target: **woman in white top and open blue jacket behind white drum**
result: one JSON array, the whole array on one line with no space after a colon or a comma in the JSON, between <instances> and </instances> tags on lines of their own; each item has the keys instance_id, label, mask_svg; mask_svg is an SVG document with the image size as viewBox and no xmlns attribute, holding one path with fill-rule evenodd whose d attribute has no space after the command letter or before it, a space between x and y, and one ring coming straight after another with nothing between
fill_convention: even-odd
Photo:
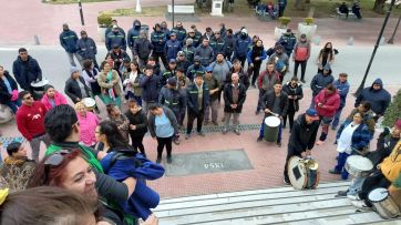
<instances>
[{"instance_id":1,"label":"woman in white top and open blue jacket behind white drum","mask_svg":"<svg viewBox=\"0 0 401 225\"><path fill-rule=\"evenodd\" d=\"M345 170L346 161L351 154L362 155L370 142L370 132L363 124L363 113L353 114L353 120L346 120L337 132L337 165L329 170L331 174L341 174L342 180L348 180L348 172Z\"/></svg>"}]
</instances>

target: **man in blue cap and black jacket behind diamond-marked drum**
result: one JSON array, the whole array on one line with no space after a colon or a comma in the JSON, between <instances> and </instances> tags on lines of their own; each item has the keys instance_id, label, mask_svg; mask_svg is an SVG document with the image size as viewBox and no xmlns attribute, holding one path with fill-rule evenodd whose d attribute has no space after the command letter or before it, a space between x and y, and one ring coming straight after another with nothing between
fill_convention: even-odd
<instances>
[{"instance_id":1,"label":"man in blue cap and black jacket behind diamond-marked drum","mask_svg":"<svg viewBox=\"0 0 401 225\"><path fill-rule=\"evenodd\" d=\"M288 161L291 156L297 155L306 157L311 155L311 150L315 146L316 135L319 130L319 116L315 109L309 109L306 113L300 114L294 122L291 135L288 140L288 152L286 165L284 168L284 183L290 184L288 177Z\"/></svg>"}]
</instances>

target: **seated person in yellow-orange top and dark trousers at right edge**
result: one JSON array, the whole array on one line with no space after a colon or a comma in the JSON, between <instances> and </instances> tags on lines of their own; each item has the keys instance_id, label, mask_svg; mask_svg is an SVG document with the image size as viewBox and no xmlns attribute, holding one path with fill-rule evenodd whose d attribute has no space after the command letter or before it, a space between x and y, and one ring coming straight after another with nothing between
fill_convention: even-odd
<instances>
[{"instance_id":1,"label":"seated person in yellow-orange top and dark trousers at right edge","mask_svg":"<svg viewBox=\"0 0 401 225\"><path fill-rule=\"evenodd\" d=\"M369 193L378 187L389 188L401 173L401 141L397 143L391 154L378 165L378 171L371 173L363 182L358 193L361 201L352 201L357 207L372 207L368 198ZM394 184L398 184L397 182Z\"/></svg>"}]
</instances>

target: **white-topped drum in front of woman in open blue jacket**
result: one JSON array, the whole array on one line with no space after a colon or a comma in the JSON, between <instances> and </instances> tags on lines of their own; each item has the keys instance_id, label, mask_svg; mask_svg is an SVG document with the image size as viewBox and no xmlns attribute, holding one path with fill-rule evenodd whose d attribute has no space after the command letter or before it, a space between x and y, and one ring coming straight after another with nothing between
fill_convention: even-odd
<instances>
[{"instance_id":1,"label":"white-topped drum in front of woman in open blue jacket","mask_svg":"<svg viewBox=\"0 0 401 225\"><path fill-rule=\"evenodd\" d=\"M360 155L351 155L347 158L346 170L353 176L367 176L373 168L373 163L368 158Z\"/></svg>"}]
</instances>

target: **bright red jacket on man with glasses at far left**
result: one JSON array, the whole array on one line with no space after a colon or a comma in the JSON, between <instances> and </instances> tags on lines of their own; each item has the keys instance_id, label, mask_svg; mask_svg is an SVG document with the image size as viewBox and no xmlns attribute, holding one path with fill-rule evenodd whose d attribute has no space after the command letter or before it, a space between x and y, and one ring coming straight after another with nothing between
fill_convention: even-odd
<instances>
[{"instance_id":1,"label":"bright red jacket on man with glasses at far left","mask_svg":"<svg viewBox=\"0 0 401 225\"><path fill-rule=\"evenodd\" d=\"M48 112L44 104L34 101L32 106L22 104L17 111L17 126L28 141L45 133L44 115Z\"/></svg>"}]
</instances>

